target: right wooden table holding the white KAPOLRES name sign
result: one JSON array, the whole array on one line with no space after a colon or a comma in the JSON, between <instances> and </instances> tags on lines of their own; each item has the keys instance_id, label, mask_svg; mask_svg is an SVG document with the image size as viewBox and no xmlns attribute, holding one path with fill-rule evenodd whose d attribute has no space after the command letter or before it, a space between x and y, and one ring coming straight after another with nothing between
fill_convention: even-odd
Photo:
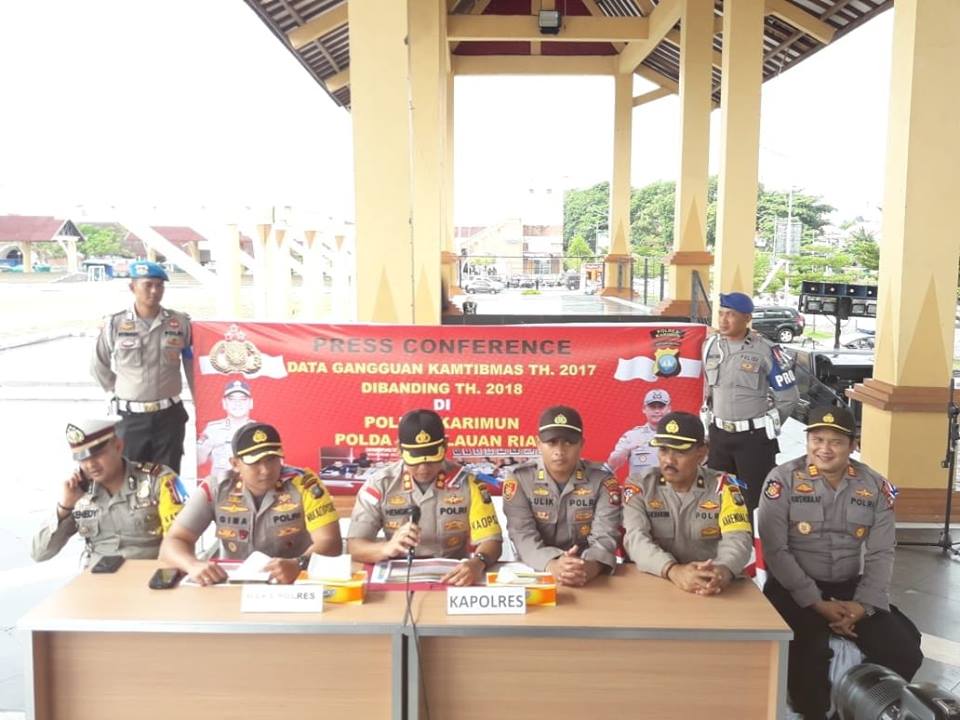
<instances>
[{"instance_id":1,"label":"right wooden table holding the white KAPOLRES name sign","mask_svg":"<svg viewBox=\"0 0 960 720\"><path fill-rule=\"evenodd\" d=\"M747 580L700 597L628 565L526 615L448 616L444 602L415 598L410 718L424 688L431 718L784 715L790 628Z\"/></svg>"}]
</instances>

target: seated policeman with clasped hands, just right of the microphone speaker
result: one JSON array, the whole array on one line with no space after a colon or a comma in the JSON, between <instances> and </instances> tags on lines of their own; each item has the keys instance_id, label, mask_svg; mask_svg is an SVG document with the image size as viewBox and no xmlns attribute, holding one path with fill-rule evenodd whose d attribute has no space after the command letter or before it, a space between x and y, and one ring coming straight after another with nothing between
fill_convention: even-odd
<instances>
[{"instance_id":1,"label":"seated policeman with clasped hands, just right of the microphone speaker","mask_svg":"<svg viewBox=\"0 0 960 720\"><path fill-rule=\"evenodd\" d=\"M539 422L540 457L503 483L507 533L519 559L563 585L582 586L617 568L620 486L599 463L581 460L583 420L555 405Z\"/></svg>"}]
</instances>

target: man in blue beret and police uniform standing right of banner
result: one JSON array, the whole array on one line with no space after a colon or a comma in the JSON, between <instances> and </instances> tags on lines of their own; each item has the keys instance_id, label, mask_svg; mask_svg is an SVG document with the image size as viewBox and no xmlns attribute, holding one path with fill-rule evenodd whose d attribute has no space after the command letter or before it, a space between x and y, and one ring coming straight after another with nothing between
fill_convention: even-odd
<instances>
[{"instance_id":1,"label":"man in blue beret and police uniform standing right of banner","mask_svg":"<svg viewBox=\"0 0 960 720\"><path fill-rule=\"evenodd\" d=\"M777 464L780 425L800 399L780 346L748 327L752 313L749 296L721 293L719 333L704 346L704 404L711 418L707 465L746 483L751 513Z\"/></svg>"}]
</instances>

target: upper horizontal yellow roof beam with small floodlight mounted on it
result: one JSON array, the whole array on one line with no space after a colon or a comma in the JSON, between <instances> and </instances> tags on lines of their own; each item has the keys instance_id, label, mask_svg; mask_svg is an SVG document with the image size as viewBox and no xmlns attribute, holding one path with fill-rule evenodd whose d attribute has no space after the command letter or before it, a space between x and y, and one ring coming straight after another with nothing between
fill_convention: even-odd
<instances>
[{"instance_id":1,"label":"upper horizontal yellow roof beam with small floodlight mounted on it","mask_svg":"<svg viewBox=\"0 0 960 720\"><path fill-rule=\"evenodd\" d=\"M450 42L630 42L647 37L639 17L565 16L556 35L543 35L535 15L449 15Z\"/></svg>"}]
</instances>

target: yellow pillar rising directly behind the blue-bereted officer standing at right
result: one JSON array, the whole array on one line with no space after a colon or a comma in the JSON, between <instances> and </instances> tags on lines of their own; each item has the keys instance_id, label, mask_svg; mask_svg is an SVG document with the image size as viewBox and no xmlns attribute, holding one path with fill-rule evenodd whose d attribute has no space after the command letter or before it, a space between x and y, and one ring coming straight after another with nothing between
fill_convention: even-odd
<instances>
[{"instance_id":1,"label":"yellow pillar rising directly behind the blue-bereted officer standing at right","mask_svg":"<svg viewBox=\"0 0 960 720\"><path fill-rule=\"evenodd\" d=\"M737 0L723 9L717 264L710 292L714 322L721 291L753 294L763 12L762 3Z\"/></svg>"}]
</instances>

